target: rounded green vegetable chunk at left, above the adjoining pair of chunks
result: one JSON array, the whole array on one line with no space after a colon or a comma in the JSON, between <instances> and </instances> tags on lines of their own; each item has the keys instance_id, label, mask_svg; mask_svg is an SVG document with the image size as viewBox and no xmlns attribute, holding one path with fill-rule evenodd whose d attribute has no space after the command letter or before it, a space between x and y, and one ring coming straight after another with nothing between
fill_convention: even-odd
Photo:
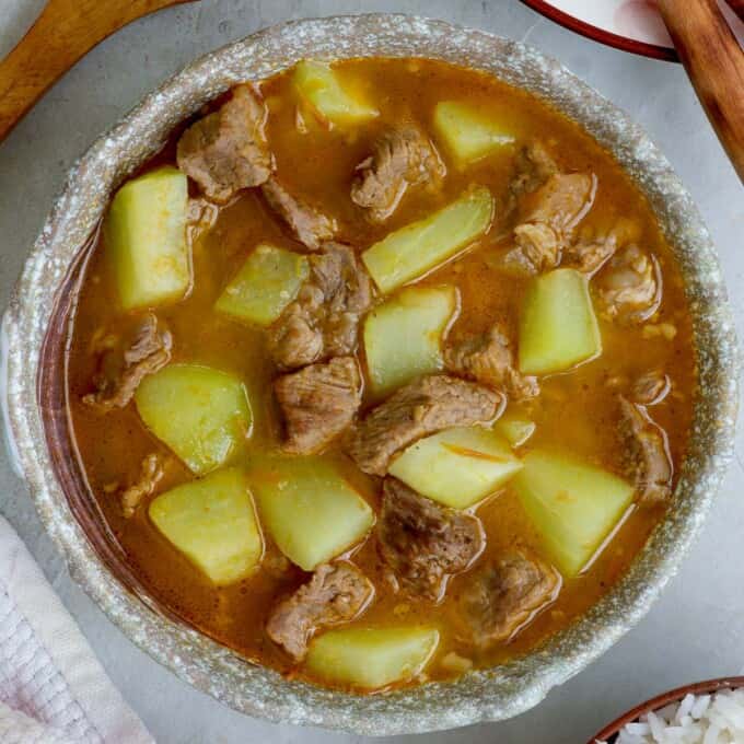
<instances>
[{"instance_id":1,"label":"rounded green vegetable chunk at left, above the adjoining pair of chunks","mask_svg":"<svg viewBox=\"0 0 744 744\"><path fill-rule=\"evenodd\" d=\"M135 402L148 429L197 475L222 465L253 422L243 383L199 364L168 364L146 377Z\"/></svg>"}]
</instances>

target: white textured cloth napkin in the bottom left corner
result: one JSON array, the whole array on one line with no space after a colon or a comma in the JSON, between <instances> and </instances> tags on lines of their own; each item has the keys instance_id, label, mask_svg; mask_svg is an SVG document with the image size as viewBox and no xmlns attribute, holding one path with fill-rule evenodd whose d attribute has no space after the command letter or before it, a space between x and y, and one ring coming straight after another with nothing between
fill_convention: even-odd
<instances>
[{"instance_id":1,"label":"white textured cloth napkin in the bottom left corner","mask_svg":"<svg viewBox=\"0 0 744 744\"><path fill-rule=\"evenodd\" d=\"M154 744L2 516L0 742Z\"/></svg>"}]
</instances>

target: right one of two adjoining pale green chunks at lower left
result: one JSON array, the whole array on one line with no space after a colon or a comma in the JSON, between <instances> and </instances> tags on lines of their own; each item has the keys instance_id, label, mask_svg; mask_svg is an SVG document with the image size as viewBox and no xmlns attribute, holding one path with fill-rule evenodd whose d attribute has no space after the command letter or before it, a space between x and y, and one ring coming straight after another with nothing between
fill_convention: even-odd
<instances>
[{"instance_id":1,"label":"right one of two adjoining pale green chunks at lower left","mask_svg":"<svg viewBox=\"0 0 744 744\"><path fill-rule=\"evenodd\" d=\"M256 463L251 486L274 542L305 571L350 548L374 523L367 501L322 457Z\"/></svg>"}]
</instances>

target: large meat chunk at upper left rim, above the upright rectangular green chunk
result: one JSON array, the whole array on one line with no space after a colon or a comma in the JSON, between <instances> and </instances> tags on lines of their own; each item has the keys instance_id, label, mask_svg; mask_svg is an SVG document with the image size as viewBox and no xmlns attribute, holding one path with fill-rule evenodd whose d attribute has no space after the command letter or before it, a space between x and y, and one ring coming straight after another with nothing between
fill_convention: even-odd
<instances>
[{"instance_id":1,"label":"large meat chunk at upper left rim, above the upright rectangular green chunk","mask_svg":"<svg viewBox=\"0 0 744 744\"><path fill-rule=\"evenodd\" d=\"M191 125L178 140L178 167L213 201L259 186L274 171L264 125L266 106L249 85L239 85L222 107Z\"/></svg>"}]
</instances>

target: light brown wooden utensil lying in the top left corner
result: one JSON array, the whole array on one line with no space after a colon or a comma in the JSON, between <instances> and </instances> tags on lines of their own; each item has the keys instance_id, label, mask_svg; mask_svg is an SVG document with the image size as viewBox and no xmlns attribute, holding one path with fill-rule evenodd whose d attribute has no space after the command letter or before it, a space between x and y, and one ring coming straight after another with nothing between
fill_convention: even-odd
<instances>
[{"instance_id":1,"label":"light brown wooden utensil lying in the top left corner","mask_svg":"<svg viewBox=\"0 0 744 744\"><path fill-rule=\"evenodd\" d=\"M49 0L0 62L0 141L58 78L131 21L191 0Z\"/></svg>"}]
</instances>

